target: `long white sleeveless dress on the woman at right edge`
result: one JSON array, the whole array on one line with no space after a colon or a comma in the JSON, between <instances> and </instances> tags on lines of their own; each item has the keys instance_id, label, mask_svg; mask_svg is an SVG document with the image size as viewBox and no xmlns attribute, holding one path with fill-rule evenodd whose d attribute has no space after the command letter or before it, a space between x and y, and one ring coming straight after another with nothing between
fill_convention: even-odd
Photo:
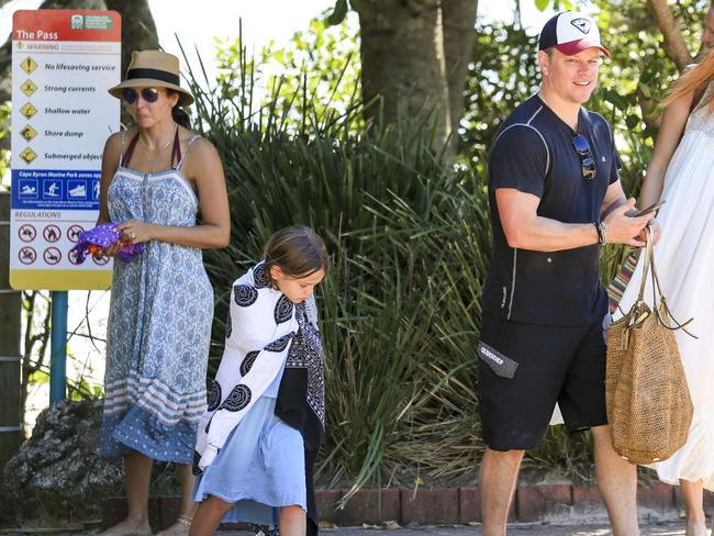
<instances>
[{"instance_id":1,"label":"long white sleeveless dress on the woman at right edge","mask_svg":"<svg viewBox=\"0 0 714 536\"><path fill-rule=\"evenodd\" d=\"M658 220L662 236L655 260L662 291L679 322L699 336L677 331L694 418L687 443L668 460L654 464L660 480L703 480L714 491L714 81L690 115L682 139L665 176ZM628 311L637 299L644 256L633 273L620 306ZM651 301L651 283L645 298ZM615 317L622 316L617 311Z\"/></svg>"}]
</instances>

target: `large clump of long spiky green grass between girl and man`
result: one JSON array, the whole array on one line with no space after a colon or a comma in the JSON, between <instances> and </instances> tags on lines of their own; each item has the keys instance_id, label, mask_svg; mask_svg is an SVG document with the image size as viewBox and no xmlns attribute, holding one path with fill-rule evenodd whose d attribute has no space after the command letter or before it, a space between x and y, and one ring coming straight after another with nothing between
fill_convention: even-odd
<instances>
[{"instance_id":1,"label":"large clump of long spiky green grass between girl and man","mask_svg":"<svg viewBox=\"0 0 714 536\"><path fill-rule=\"evenodd\" d=\"M359 485L414 462L434 473L471 468L479 451L471 350L490 250L480 178L444 168L422 125L355 133L354 105L338 121L328 109L312 111L314 134L302 135L294 122L263 119L280 116L283 101L279 93L254 101L253 79L244 80L230 102L221 87L191 88L232 206L231 246L204 253L220 319L211 368L231 282L272 232L308 224L334 263L317 292L330 407L323 481ZM436 417L450 436L434 429Z\"/></svg>"}]
</instances>

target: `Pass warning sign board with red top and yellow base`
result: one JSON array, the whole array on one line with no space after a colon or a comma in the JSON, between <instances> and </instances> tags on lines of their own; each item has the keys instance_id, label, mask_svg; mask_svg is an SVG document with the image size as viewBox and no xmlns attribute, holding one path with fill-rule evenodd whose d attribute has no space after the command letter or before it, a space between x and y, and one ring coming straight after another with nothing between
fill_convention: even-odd
<instances>
[{"instance_id":1,"label":"Pass warning sign board with red top and yellow base","mask_svg":"<svg viewBox=\"0 0 714 536\"><path fill-rule=\"evenodd\" d=\"M104 142L119 131L121 16L115 11L12 14L10 284L107 289L112 259L77 265L96 225Z\"/></svg>"}]
</instances>

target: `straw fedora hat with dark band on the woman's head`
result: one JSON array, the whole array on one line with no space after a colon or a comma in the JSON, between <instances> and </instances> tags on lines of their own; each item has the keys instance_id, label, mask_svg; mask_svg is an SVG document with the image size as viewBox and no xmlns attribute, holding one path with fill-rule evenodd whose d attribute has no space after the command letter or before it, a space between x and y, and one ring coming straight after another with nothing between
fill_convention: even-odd
<instances>
[{"instance_id":1,"label":"straw fedora hat with dark band on the woman's head","mask_svg":"<svg viewBox=\"0 0 714 536\"><path fill-rule=\"evenodd\" d=\"M178 58L160 51L134 51L132 62L126 69L123 82L109 89L109 92L122 98L125 88L167 88L179 93L178 105L187 107L193 102L193 96L181 86Z\"/></svg>"}]
</instances>

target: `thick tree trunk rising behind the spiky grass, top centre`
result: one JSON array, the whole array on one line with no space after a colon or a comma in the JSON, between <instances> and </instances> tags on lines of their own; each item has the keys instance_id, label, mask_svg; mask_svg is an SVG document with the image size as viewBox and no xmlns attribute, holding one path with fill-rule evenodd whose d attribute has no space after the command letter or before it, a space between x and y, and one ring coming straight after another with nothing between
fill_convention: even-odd
<instances>
[{"instance_id":1,"label":"thick tree trunk rising behind the spiky grass, top centre","mask_svg":"<svg viewBox=\"0 0 714 536\"><path fill-rule=\"evenodd\" d=\"M466 68L477 0L366 0L359 2L361 82L370 118L400 114L434 129L436 146L451 136L464 110ZM454 134L451 134L454 133Z\"/></svg>"}]
</instances>

